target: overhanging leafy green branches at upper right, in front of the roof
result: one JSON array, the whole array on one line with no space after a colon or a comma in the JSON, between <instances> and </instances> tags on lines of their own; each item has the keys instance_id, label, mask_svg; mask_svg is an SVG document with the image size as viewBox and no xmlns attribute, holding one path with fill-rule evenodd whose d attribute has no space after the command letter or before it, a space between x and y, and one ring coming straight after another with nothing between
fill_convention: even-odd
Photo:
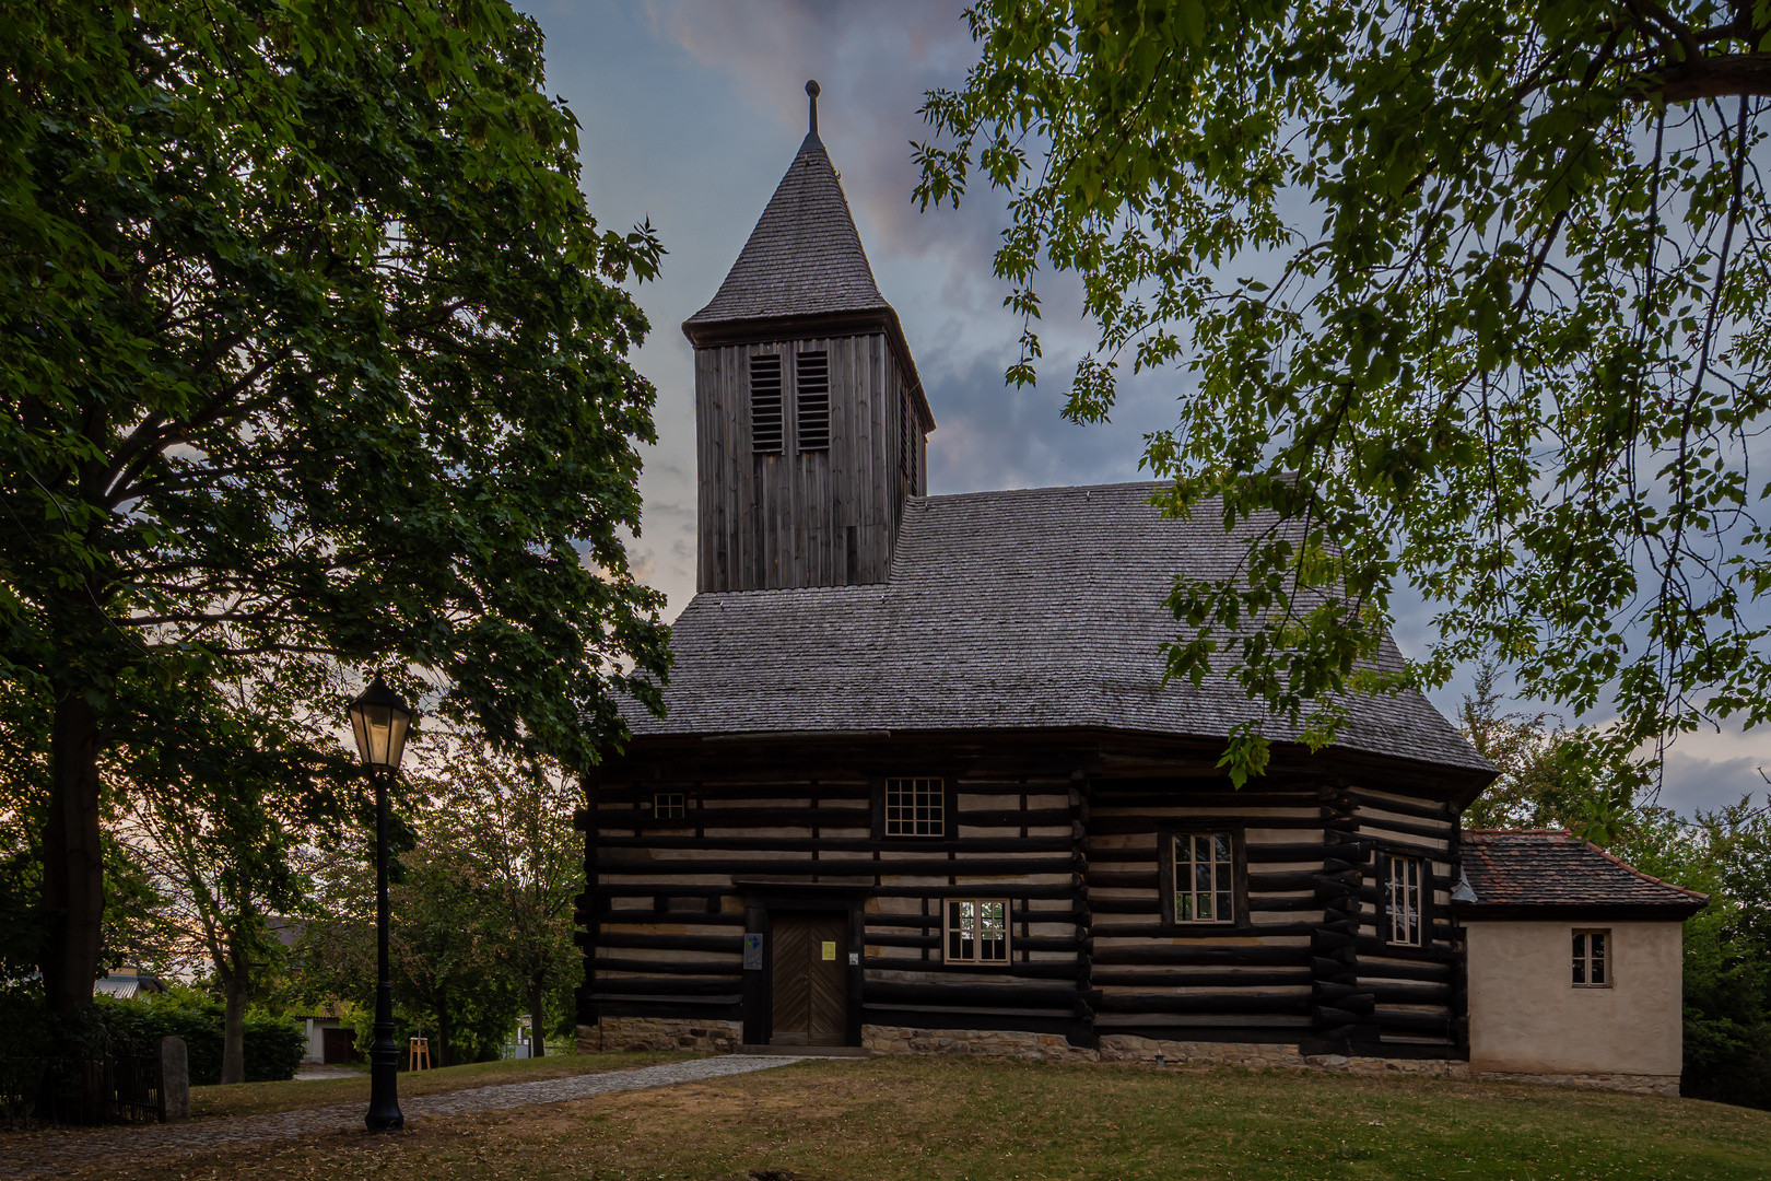
<instances>
[{"instance_id":1,"label":"overhanging leafy green branches at upper right, in front of the roof","mask_svg":"<svg viewBox=\"0 0 1771 1181\"><path fill-rule=\"evenodd\" d=\"M981 0L923 108L926 205L1009 197L995 271L1038 375L1041 266L1096 345L1066 414L1185 365L1144 466L1245 561L1178 581L1172 676L1233 668L1328 740L1348 689L1498 655L1619 751L1771 717L1759 600L1771 5ZM1399 584L1438 643L1378 671ZM1233 776L1264 763L1261 722Z\"/></svg>"}]
</instances>

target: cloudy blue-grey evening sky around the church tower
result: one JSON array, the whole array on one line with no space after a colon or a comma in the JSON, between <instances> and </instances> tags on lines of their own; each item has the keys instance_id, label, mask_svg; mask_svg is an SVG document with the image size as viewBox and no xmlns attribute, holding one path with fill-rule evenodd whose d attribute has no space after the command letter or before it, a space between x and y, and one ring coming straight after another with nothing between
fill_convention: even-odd
<instances>
[{"instance_id":1,"label":"cloudy blue-grey evening sky around the church tower","mask_svg":"<svg viewBox=\"0 0 1771 1181\"><path fill-rule=\"evenodd\" d=\"M917 106L956 87L974 60L958 0L531 0L547 32L549 89L583 122L584 191L607 228L645 218L669 257L638 289L652 319L641 372L659 390L659 444L646 455L636 567L669 595L694 593L694 377L680 324L712 299L806 135L808 78L824 94L818 131L843 179L880 290L898 308L935 411L930 490L1105 483L1139 478L1144 432L1174 418L1174 375L1130 382L1110 425L1059 418L1063 375L1093 338L1073 285L1043 287L1047 382L1008 390L1018 322L990 274L1001 202L921 212L910 193ZM1404 650L1427 641L1419 604L1399 604ZM1466 678L1435 694L1454 714ZM1567 719L1574 721L1574 719ZM1667 767L1663 802L1690 809L1762 790L1771 737L1697 733Z\"/></svg>"}]
</instances>

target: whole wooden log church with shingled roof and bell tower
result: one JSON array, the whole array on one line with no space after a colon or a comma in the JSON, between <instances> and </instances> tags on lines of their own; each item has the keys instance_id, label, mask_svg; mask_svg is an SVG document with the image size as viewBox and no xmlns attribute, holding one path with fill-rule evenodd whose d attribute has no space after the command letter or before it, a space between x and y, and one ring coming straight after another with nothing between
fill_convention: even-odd
<instances>
[{"instance_id":1,"label":"whole wooden log church with shingled roof and bell tower","mask_svg":"<svg viewBox=\"0 0 1771 1181\"><path fill-rule=\"evenodd\" d=\"M935 428L811 131L696 354L698 595L668 715L586 783L584 1048L1468 1055L1461 809L1420 696L1217 770L1256 708L1162 683L1149 483L926 494ZM1399 659L1394 648L1388 659ZM1465 889L1465 894L1468 891Z\"/></svg>"}]
</instances>

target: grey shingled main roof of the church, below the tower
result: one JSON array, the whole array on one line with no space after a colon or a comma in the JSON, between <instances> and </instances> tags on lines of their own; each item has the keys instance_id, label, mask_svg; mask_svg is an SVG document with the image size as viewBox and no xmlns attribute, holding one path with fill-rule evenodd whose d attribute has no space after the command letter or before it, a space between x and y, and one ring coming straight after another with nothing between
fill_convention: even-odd
<instances>
[{"instance_id":1,"label":"grey shingled main roof of the church, below the tower","mask_svg":"<svg viewBox=\"0 0 1771 1181\"><path fill-rule=\"evenodd\" d=\"M910 499L887 583L696 595L673 629L669 714L629 710L632 729L1226 737L1261 706L1227 676L1162 683L1178 630L1164 598L1179 572L1234 572L1241 544L1211 512L1162 517L1153 487ZM1296 737L1277 719L1264 733ZM1355 699L1337 745L1493 770L1415 692Z\"/></svg>"}]
</instances>

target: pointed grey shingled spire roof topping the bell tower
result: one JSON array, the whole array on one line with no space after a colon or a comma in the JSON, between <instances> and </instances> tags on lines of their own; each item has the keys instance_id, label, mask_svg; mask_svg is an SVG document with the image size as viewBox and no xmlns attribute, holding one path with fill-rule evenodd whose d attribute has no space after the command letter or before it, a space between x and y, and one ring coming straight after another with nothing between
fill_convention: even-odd
<instances>
[{"instance_id":1,"label":"pointed grey shingled spire roof topping the bell tower","mask_svg":"<svg viewBox=\"0 0 1771 1181\"><path fill-rule=\"evenodd\" d=\"M714 301L689 324L889 312L816 133L781 177Z\"/></svg>"}]
</instances>

